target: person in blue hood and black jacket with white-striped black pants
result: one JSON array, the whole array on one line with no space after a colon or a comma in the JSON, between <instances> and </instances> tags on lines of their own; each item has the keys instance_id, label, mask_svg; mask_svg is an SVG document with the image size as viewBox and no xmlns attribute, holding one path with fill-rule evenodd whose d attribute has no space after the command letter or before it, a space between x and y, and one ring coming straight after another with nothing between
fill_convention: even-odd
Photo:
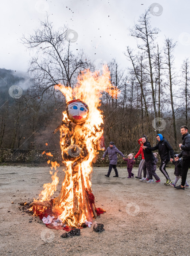
<instances>
[{"instance_id":1,"label":"person in blue hood and black jacket with white-striped black pants","mask_svg":"<svg viewBox=\"0 0 190 256\"><path fill-rule=\"evenodd\" d=\"M164 137L162 136L162 134L158 133L156 135L156 139L158 140L158 143L156 144L156 146L154 147L147 147L149 150L157 150L159 152L160 158L161 158L161 163L160 163L160 172L162 172L164 174L164 176L166 177L166 183L164 183L166 186L170 184L171 180L170 177L168 175L168 173L166 172L166 165L169 161L173 161L174 159L174 150L173 148L170 146L169 142L164 139ZM143 147L145 148L145 147Z\"/></svg>"}]
</instances>

